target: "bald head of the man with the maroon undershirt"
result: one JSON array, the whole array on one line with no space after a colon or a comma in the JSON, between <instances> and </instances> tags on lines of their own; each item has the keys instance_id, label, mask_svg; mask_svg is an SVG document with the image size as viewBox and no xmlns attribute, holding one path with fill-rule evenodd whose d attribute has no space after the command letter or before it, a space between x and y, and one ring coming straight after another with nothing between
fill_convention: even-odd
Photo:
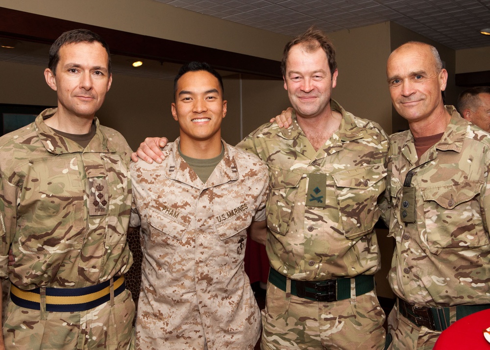
<instances>
[{"instance_id":1,"label":"bald head of the man with the maroon undershirt","mask_svg":"<svg viewBox=\"0 0 490 350\"><path fill-rule=\"evenodd\" d=\"M441 91L446 88L447 72L433 46L420 42L400 46L388 58L386 75L393 106L409 125L444 114Z\"/></svg>"}]
</instances>

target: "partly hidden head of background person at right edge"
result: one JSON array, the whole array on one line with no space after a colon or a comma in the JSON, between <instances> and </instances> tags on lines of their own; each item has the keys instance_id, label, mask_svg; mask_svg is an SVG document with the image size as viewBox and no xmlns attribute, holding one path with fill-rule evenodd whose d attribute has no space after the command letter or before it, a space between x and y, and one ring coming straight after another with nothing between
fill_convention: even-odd
<instances>
[{"instance_id":1,"label":"partly hidden head of background person at right edge","mask_svg":"<svg viewBox=\"0 0 490 350\"><path fill-rule=\"evenodd\" d=\"M458 97L458 111L468 122L490 132L490 86L475 86Z\"/></svg>"}]
</instances>

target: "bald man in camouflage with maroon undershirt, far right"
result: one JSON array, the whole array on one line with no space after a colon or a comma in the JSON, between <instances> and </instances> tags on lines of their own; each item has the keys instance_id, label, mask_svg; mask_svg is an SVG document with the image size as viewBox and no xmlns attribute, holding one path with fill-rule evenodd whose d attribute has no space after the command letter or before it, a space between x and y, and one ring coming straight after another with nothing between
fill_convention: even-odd
<instances>
[{"instance_id":1,"label":"bald man in camouflage with maroon undershirt, far right","mask_svg":"<svg viewBox=\"0 0 490 350\"><path fill-rule=\"evenodd\" d=\"M490 139L443 105L447 72L434 47L402 45L387 76L410 126L390 138L382 205L396 241L389 349L429 350L448 325L490 307Z\"/></svg>"}]
</instances>

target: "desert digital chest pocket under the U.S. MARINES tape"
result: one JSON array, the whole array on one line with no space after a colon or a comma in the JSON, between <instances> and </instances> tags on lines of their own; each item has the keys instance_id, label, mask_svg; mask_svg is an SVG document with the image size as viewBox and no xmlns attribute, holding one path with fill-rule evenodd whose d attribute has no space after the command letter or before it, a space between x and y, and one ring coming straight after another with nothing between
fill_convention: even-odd
<instances>
[{"instance_id":1,"label":"desert digital chest pocket under the U.S. MARINES tape","mask_svg":"<svg viewBox=\"0 0 490 350\"><path fill-rule=\"evenodd\" d=\"M231 265L235 268L241 264L245 257L246 229L252 223L250 210L241 213L231 219L216 224L221 242L224 244L226 254Z\"/></svg>"}]
</instances>

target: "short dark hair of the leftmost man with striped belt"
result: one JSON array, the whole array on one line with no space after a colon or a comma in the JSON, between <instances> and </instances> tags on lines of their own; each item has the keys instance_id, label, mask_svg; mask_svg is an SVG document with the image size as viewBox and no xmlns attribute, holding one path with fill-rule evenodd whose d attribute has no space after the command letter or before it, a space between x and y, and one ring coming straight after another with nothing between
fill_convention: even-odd
<instances>
[{"instance_id":1,"label":"short dark hair of the leftmost man with striped belt","mask_svg":"<svg viewBox=\"0 0 490 350\"><path fill-rule=\"evenodd\" d=\"M56 66L60 60L59 51L63 45L74 44L74 43L93 43L98 42L103 48L107 51L107 56L109 58L109 66L108 73L109 75L112 72L111 66L111 53L109 52L109 45L105 42L104 39L97 33L94 33L88 29L73 29L68 30L61 34L58 39L51 45L49 48L49 64L48 68L53 72L53 75L56 75Z\"/></svg>"}]
</instances>

